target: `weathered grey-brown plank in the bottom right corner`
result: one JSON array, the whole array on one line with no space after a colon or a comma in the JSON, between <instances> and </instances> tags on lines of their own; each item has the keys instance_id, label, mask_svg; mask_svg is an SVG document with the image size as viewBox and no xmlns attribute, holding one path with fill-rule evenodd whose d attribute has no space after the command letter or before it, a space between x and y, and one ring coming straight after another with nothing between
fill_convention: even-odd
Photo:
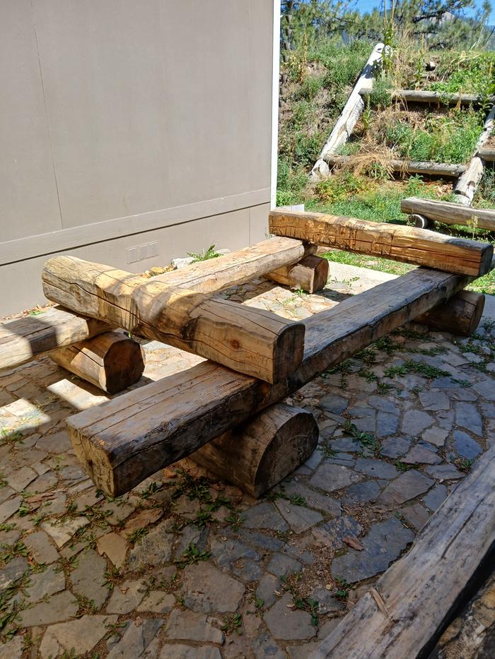
<instances>
[{"instance_id":1,"label":"weathered grey-brown plank in the bottom right corner","mask_svg":"<svg viewBox=\"0 0 495 659\"><path fill-rule=\"evenodd\" d=\"M310 659L426 657L495 548L495 447L443 502ZM349 550L354 551L354 550ZM378 600L378 601L377 601Z\"/></svg>"}]
</instances>

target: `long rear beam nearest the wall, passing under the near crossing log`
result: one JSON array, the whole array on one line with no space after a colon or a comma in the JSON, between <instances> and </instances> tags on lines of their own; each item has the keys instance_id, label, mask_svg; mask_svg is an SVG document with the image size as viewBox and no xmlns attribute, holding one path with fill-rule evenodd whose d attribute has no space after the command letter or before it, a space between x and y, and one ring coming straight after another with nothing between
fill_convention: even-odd
<instances>
[{"instance_id":1,"label":"long rear beam nearest the wall, passing under the near crossing log","mask_svg":"<svg viewBox=\"0 0 495 659\"><path fill-rule=\"evenodd\" d=\"M315 249L315 245L303 244L301 240L271 238L217 259L192 263L180 270L159 275L156 280L201 292L216 292L296 263ZM0 326L0 371L20 366L50 350L110 329L112 327L107 323L78 316L60 307L54 307L40 316L8 321Z\"/></svg>"}]
</instances>

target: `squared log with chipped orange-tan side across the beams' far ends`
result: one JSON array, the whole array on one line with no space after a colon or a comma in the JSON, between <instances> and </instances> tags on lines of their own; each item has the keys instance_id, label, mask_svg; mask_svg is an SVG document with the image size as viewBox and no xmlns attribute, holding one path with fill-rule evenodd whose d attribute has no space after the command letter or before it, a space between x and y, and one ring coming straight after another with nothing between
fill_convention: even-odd
<instances>
[{"instance_id":1,"label":"squared log with chipped orange-tan side across the beams' far ends","mask_svg":"<svg viewBox=\"0 0 495 659\"><path fill-rule=\"evenodd\" d=\"M269 229L279 236L474 277L487 273L494 251L487 243L426 229L323 213L272 210Z\"/></svg>"}]
</instances>

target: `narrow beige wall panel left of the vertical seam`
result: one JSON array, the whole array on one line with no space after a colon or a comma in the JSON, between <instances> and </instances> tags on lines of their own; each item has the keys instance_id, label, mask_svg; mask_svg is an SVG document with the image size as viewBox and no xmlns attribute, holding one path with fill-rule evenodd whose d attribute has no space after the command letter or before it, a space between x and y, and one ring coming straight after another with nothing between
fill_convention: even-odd
<instances>
[{"instance_id":1,"label":"narrow beige wall panel left of the vertical seam","mask_svg":"<svg viewBox=\"0 0 495 659\"><path fill-rule=\"evenodd\" d=\"M0 242L59 229L30 0L0 4Z\"/></svg>"}]
</instances>

